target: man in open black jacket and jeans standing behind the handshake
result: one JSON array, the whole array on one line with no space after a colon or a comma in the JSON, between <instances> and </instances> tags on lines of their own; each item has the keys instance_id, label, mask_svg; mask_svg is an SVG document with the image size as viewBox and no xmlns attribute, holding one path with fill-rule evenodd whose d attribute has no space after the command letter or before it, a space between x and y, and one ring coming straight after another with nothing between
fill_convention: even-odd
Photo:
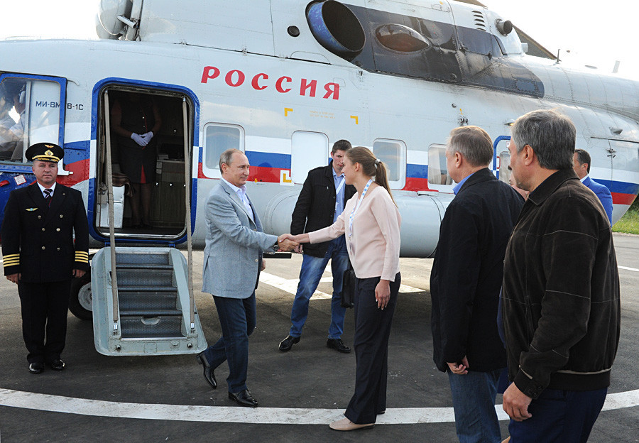
<instances>
[{"instance_id":1,"label":"man in open black jacket and jeans standing behind the handshake","mask_svg":"<svg viewBox=\"0 0 639 443\"><path fill-rule=\"evenodd\" d=\"M344 153L351 148L346 140L336 141L331 152L331 162L327 166L315 168L308 173L300 197L291 216L290 232L293 235L316 231L335 222L344 211L344 203L356 190L346 185L342 168ZM300 252L301 249L296 249ZM291 327L288 337L280 343L280 351L289 351L293 344L300 342L302 327L308 315L308 302L320 284L327 263L331 260L333 274L333 297L331 305L331 325L326 346L339 352L349 353L351 349L342 342L344 315L342 307L342 276L349 268L349 256L344 236L320 244L305 244L300 283L290 312Z\"/></svg>"}]
</instances>

